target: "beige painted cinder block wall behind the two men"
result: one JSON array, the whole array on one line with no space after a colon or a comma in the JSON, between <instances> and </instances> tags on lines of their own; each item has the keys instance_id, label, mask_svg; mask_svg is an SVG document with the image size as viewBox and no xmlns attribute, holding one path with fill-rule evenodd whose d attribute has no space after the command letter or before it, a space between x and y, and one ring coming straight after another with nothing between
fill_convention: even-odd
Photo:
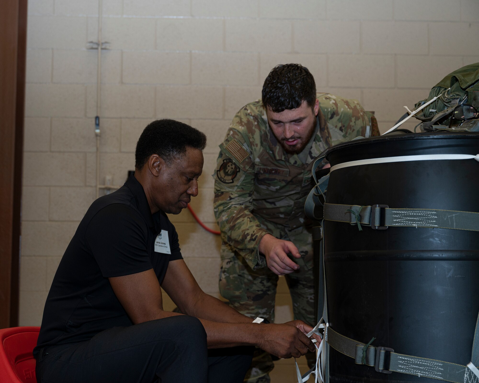
<instances>
[{"instance_id":1,"label":"beige painted cinder block wall behind the two men","mask_svg":"<svg viewBox=\"0 0 479 383\"><path fill-rule=\"evenodd\" d=\"M39 325L58 262L95 197L97 0L30 0L21 325ZM319 91L356 98L382 131L448 72L479 61L477 0L104 0L101 170L123 183L141 130L179 119L208 136L192 206L215 227L218 148L274 65L298 62ZM411 127L411 124L408 124ZM218 294L219 239L172 217L203 289ZM278 320L291 317L285 284ZM293 372L290 375L290 372ZM294 379L289 364L276 369Z\"/></svg>"}]
</instances>

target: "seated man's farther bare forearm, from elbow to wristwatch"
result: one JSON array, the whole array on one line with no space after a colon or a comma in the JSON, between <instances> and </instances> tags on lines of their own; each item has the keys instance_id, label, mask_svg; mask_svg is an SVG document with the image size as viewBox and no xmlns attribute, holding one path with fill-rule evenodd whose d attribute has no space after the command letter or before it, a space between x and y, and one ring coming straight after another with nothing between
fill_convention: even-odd
<instances>
[{"instance_id":1,"label":"seated man's farther bare forearm, from elbow to wristwatch","mask_svg":"<svg viewBox=\"0 0 479 383\"><path fill-rule=\"evenodd\" d=\"M194 304L187 309L187 314L197 318L221 323L251 323L252 319L240 314L219 299L201 292Z\"/></svg>"}]
</instances>

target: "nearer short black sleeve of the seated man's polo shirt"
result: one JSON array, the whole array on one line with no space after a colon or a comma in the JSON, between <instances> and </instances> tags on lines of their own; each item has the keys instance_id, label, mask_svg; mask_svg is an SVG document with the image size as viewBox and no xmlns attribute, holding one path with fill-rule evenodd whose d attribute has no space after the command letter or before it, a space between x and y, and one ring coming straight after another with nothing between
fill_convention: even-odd
<instances>
[{"instance_id":1,"label":"nearer short black sleeve of the seated man's polo shirt","mask_svg":"<svg viewBox=\"0 0 479 383\"><path fill-rule=\"evenodd\" d=\"M104 207L91 219L85 234L103 277L120 277L152 268L148 226L141 215L122 203Z\"/></svg>"}]
</instances>

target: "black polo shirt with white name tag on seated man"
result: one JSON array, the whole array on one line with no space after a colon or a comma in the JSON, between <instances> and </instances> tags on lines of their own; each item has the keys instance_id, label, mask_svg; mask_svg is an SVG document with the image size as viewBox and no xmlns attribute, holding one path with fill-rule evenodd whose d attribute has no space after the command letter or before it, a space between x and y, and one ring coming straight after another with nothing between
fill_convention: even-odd
<instances>
[{"instance_id":1,"label":"black polo shirt with white name tag on seated man","mask_svg":"<svg viewBox=\"0 0 479 383\"><path fill-rule=\"evenodd\" d=\"M163 212L151 214L143 187L131 176L93 202L81 220L48 293L34 356L45 346L132 326L108 278L153 269L161 283L175 259L182 255L174 226Z\"/></svg>"}]
</instances>

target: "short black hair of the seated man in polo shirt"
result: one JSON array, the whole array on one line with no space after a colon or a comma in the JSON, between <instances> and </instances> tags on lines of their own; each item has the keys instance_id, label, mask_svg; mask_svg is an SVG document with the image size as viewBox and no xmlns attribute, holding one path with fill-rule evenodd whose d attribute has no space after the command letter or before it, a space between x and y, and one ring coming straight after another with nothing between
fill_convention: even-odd
<instances>
[{"instance_id":1,"label":"short black hair of the seated man in polo shirt","mask_svg":"<svg viewBox=\"0 0 479 383\"><path fill-rule=\"evenodd\" d=\"M188 146L203 150L206 146L205 134L179 121L168 119L153 121L138 138L135 168L142 169L153 154L158 154L170 165L174 158L186 153Z\"/></svg>"}]
</instances>

